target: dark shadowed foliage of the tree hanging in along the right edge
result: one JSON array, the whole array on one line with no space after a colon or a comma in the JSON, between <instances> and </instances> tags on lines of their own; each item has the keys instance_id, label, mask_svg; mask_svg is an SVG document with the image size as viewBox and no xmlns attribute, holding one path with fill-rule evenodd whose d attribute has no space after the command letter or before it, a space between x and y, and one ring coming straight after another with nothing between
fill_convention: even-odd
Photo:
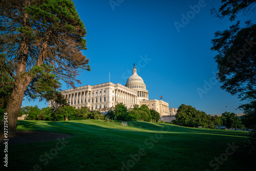
<instances>
[{"instance_id":1,"label":"dark shadowed foliage of the tree hanging in along the right edge","mask_svg":"<svg viewBox=\"0 0 256 171\"><path fill-rule=\"evenodd\" d=\"M236 20L238 14L248 17L255 11L256 1L221 2L219 10L212 9L211 13L220 19L229 17L231 22ZM211 40L211 50L218 53L215 61L218 64L217 78L222 83L221 89L238 96L242 101L246 100L248 103L239 108L256 121L256 25L250 19L245 21L245 27L240 25L241 20L237 20L229 29L217 31Z\"/></svg>"}]
</instances>

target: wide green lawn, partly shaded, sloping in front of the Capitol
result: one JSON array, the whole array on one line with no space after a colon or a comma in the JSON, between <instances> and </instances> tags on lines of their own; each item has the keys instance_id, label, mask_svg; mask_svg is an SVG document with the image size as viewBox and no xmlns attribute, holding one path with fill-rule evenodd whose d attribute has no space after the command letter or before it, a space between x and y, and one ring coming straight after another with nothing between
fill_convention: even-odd
<instances>
[{"instance_id":1,"label":"wide green lawn, partly shaded, sloping in front of the Capitol","mask_svg":"<svg viewBox=\"0 0 256 171\"><path fill-rule=\"evenodd\" d=\"M103 120L18 121L17 130L74 136L62 140L63 145L57 140L9 144L8 170L255 170L255 158L244 147L245 132L149 122L128 125Z\"/></svg>"}]
</instances>

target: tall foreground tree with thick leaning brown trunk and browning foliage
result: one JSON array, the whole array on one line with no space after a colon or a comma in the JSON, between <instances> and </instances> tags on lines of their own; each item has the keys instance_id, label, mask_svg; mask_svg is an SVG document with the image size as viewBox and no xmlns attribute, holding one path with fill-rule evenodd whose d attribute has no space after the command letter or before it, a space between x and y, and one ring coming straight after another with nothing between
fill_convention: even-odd
<instances>
[{"instance_id":1,"label":"tall foreground tree with thick leaning brown trunk and browning foliage","mask_svg":"<svg viewBox=\"0 0 256 171\"><path fill-rule=\"evenodd\" d=\"M86 29L71 0L2 0L0 2L1 65L13 79L5 112L8 136L16 134L17 116L24 94L35 81L38 67L54 67L54 73L74 87L78 69L90 71ZM4 59L4 61L3 61ZM4 120L1 123L1 136Z\"/></svg>"}]
</instances>

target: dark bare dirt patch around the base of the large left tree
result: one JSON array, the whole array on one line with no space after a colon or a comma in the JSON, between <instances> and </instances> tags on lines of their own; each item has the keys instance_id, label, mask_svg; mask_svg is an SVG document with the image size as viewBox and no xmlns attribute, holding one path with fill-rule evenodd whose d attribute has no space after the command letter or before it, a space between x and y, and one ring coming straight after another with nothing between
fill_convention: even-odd
<instances>
[{"instance_id":1,"label":"dark bare dirt patch around the base of the large left tree","mask_svg":"<svg viewBox=\"0 0 256 171\"><path fill-rule=\"evenodd\" d=\"M31 142L42 142L42 141L52 141L63 138L70 138L72 135L61 134L61 133L51 133L42 131L16 131L16 136L9 138L8 144L22 144ZM0 144L2 145L4 138L0 138Z\"/></svg>"}]
</instances>

